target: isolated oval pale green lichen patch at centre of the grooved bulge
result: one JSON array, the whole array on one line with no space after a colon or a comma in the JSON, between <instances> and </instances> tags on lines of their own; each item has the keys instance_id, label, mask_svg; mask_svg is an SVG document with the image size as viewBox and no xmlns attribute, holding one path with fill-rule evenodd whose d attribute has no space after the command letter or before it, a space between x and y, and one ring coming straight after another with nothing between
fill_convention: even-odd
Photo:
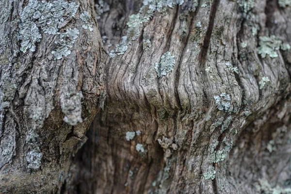
<instances>
[{"instance_id":1,"label":"isolated oval pale green lichen patch at centre of the grooved bulge","mask_svg":"<svg viewBox=\"0 0 291 194\"><path fill-rule=\"evenodd\" d=\"M170 71L173 70L175 65L175 56L172 56L169 51L162 54L160 63L155 64L155 69L157 72L158 78L167 75Z\"/></svg>"}]
</instances>

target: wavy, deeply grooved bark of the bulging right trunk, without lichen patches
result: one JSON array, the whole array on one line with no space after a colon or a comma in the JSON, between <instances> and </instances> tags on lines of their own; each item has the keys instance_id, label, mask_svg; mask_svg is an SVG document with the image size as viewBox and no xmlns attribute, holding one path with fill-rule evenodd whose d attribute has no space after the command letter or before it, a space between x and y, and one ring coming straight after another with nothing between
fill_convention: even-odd
<instances>
[{"instance_id":1,"label":"wavy, deeply grooved bark of the bulging right trunk, without lichen patches","mask_svg":"<svg viewBox=\"0 0 291 194\"><path fill-rule=\"evenodd\" d=\"M124 55L105 59L108 97L77 160L75 193L287 193L290 51L262 58L258 48L260 36L290 43L290 7L274 0L208 2L155 12ZM106 49L121 42L142 2L110 5L98 20ZM147 51L144 39L151 42ZM175 56L174 69L157 78L154 66L166 51ZM259 89L263 77L270 82ZM215 104L223 92L231 96L230 111ZM126 132L138 130L141 136L126 140ZM160 145L163 137L170 141Z\"/></svg>"}]
</instances>

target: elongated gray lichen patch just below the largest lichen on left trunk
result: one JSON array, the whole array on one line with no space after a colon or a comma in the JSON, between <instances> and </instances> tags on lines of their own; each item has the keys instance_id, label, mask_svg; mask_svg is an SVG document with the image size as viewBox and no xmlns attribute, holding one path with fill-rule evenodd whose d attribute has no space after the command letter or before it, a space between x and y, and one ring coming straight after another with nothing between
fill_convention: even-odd
<instances>
[{"instance_id":1,"label":"elongated gray lichen patch just below the largest lichen on left trunk","mask_svg":"<svg viewBox=\"0 0 291 194\"><path fill-rule=\"evenodd\" d=\"M76 39L79 36L79 30L77 28L68 29L66 32L60 34L60 40L56 41L57 49L53 50L51 53L56 59L62 59L63 56L68 56L71 54L69 50L74 46Z\"/></svg>"}]
</instances>

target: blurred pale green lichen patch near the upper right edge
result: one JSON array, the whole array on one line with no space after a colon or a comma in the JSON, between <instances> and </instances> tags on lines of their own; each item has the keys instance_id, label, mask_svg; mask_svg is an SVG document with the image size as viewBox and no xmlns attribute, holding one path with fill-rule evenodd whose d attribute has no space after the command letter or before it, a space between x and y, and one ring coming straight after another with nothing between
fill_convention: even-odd
<instances>
[{"instance_id":1,"label":"blurred pale green lichen patch near the upper right edge","mask_svg":"<svg viewBox=\"0 0 291 194\"><path fill-rule=\"evenodd\" d=\"M275 37L275 35L268 36L260 36L259 37L259 48L258 54L261 55L262 58L265 58L269 55L271 58L278 57L277 50L289 50L291 47L289 44L282 44L282 41Z\"/></svg>"}]
</instances>

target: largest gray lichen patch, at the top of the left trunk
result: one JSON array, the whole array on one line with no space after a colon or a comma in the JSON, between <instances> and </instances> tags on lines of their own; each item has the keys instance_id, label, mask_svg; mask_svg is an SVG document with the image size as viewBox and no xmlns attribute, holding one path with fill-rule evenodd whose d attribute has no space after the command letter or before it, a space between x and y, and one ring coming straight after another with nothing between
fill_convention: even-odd
<instances>
[{"instance_id":1,"label":"largest gray lichen patch, at the top of the left trunk","mask_svg":"<svg viewBox=\"0 0 291 194\"><path fill-rule=\"evenodd\" d=\"M57 34L58 26L75 16L78 5L75 2L55 0L53 2L29 0L28 5L20 11L19 35L20 50L35 51L35 43L41 40L39 28L48 34Z\"/></svg>"}]
</instances>

